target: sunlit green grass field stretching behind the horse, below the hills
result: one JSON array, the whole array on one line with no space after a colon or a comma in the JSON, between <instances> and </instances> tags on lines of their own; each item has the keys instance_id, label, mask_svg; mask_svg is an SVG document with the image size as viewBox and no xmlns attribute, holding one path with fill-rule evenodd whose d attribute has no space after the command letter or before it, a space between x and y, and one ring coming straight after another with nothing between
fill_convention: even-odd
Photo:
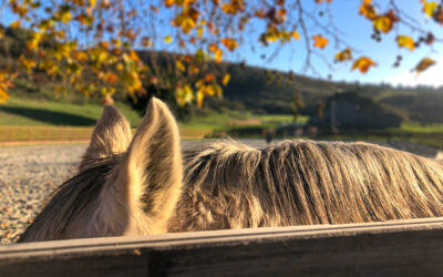
<instances>
[{"instance_id":1,"label":"sunlit green grass field stretching behind the horse, below the hills","mask_svg":"<svg viewBox=\"0 0 443 277\"><path fill-rule=\"evenodd\" d=\"M142 117L127 104L116 103L119 110L136 127ZM92 126L102 113L103 106L96 101L55 101L13 96L6 105L0 105L0 142L23 141L86 141ZM306 123L307 116L300 116L298 123ZM247 129L269 129L292 123L292 115L257 115L226 111L205 112L188 122L179 122L183 138L203 138L217 134ZM236 125L238 124L238 125ZM250 125L248 125L250 124ZM404 123L400 127L379 132L377 135L340 135L334 140L404 140L443 148L443 124ZM240 135L241 136L241 135Z\"/></svg>"}]
</instances>

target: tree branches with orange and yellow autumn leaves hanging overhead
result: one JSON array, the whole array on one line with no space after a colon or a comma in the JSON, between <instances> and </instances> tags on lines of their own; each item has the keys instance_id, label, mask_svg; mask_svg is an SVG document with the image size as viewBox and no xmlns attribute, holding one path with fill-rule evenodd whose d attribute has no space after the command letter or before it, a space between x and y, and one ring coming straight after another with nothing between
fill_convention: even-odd
<instances>
[{"instance_id":1,"label":"tree branches with orange and yellow autumn leaves hanging overhead","mask_svg":"<svg viewBox=\"0 0 443 277\"><path fill-rule=\"evenodd\" d=\"M332 60L351 62L352 70L367 73L377 64L370 53L354 57L356 51L340 35L333 20L329 25L319 21L324 16L333 18L328 9L333 0L312 1L324 6L324 11L310 13L301 0L3 0L3 13L17 20L0 30L0 37L20 28L29 29L30 35L17 59L2 61L0 102L8 99L13 79L44 72L60 81L59 92L70 90L109 99L117 91L134 96L146 94L145 88L159 86L173 90L181 106L202 105L205 96L222 95L230 75L220 65L250 35L257 41L253 48L277 42L295 43L297 48L297 41L305 40L303 63L311 71L316 70L311 55L321 55L332 40L342 48ZM399 1L388 1L385 9L378 2L362 0L356 11L372 24L373 33L368 35L374 40L381 41L402 24L419 37L399 33L395 41L401 48L414 51L420 44L431 47L441 41L403 12ZM421 3L423 17L443 24L441 2ZM151 52L142 57L146 54L142 50ZM174 54L164 58L161 50ZM269 57L276 54L278 48ZM434 63L424 57L415 71ZM395 65L400 65L400 59Z\"/></svg>"}]
</instances>

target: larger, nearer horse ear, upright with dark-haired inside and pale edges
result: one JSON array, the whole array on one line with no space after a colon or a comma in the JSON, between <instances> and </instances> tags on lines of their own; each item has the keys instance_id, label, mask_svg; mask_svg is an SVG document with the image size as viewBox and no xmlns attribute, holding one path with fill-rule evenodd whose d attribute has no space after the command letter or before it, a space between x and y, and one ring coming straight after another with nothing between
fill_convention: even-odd
<instances>
[{"instance_id":1,"label":"larger, nearer horse ear, upright with dark-haired inside and pale edges","mask_svg":"<svg viewBox=\"0 0 443 277\"><path fill-rule=\"evenodd\" d=\"M109 179L137 223L131 232L167 230L182 189L182 151L177 123L165 103L153 98L146 114ZM123 187L125 186L125 187ZM144 223L144 224L143 224Z\"/></svg>"}]
</instances>

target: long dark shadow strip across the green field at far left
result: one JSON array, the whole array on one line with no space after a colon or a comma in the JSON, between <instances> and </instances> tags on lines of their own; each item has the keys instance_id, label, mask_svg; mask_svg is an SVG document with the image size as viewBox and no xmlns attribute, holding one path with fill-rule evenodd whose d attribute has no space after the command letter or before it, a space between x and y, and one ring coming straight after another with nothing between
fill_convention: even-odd
<instances>
[{"instance_id":1,"label":"long dark shadow strip across the green field at far left","mask_svg":"<svg viewBox=\"0 0 443 277\"><path fill-rule=\"evenodd\" d=\"M95 120L82 115L32 107L1 106L0 111L53 125L92 126L95 124Z\"/></svg>"}]
</instances>

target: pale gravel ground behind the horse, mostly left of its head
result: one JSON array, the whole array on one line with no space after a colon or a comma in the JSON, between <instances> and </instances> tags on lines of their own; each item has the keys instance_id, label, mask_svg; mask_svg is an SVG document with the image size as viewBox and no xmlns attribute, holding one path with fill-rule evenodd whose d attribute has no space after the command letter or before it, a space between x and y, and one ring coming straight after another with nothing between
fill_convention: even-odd
<instances>
[{"instance_id":1,"label":"pale gravel ground behind the horse, mostly left of its head","mask_svg":"<svg viewBox=\"0 0 443 277\"><path fill-rule=\"evenodd\" d=\"M212 142L186 141L183 148L190 150ZM266 145L261 140L245 142L258 147ZM412 143L394 142L388 146L427 157L437 155L434 148ZM0 147L1 244L16 242L43 208L51 193L76 173L85 147L85 144Z\"/></svg>"}]
</instances>

